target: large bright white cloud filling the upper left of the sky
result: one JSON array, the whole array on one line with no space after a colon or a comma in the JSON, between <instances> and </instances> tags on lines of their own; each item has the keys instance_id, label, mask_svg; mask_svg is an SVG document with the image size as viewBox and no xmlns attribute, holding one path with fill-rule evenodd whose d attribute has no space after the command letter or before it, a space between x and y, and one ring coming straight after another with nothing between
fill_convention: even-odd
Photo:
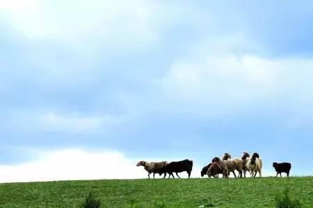
<instances>
[{"instance_id":1,"label":"large bright white cloud filling the upper left of the sky","mask_svg":"<svg viewBox=\"0 0 313 208\"><path fill-rule=\"evenodd\" d=\"M1 2L0 22L9 30L4 34L23 46L15 59L31 66L19 70L25 69L26 76L30 72L33 80L45 86L85 83L95 74L116 70L103 62L159 46L166 31L190 17L183 15L188 6L159 1Z\"/></svg>"}]
</instances>

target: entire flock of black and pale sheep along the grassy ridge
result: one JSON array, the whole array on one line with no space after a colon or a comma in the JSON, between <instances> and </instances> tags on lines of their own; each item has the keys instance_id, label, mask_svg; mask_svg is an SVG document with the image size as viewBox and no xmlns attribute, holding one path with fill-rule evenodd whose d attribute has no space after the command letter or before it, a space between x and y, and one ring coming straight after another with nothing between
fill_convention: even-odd
<instances>
[{"instance_id":1,"label":"entire flock of black and pale sheep along the grassy ridge","mask_svg":"<svg viewBox=\"0 0 313 208\"><path fill-rule=\"evenodd\" d=\"M138 162L137 166L143 166L145 171L148 173L148 177L150 178L150 174L153 173L153 178L156 173L159 175L164 174L166 177L176 173L177 177L179 177L178 173L186 171L188 173L188 177L191 175L191 171L193 168L193 161L184 159L179 162L145 162L141 161ZM246 177L246 173L250 173L250 177L256 177L257 173L259 173L259 177L262 177L262 158L259 156L258 153L253 153L250 157L249 153L244 152L242 157L240 158L233 158L229 153L224 153L222 159L219 157L214 157L212 162L207 166L204 166L201 171L201 176L207 175L208 177L218 177L219 174L222 174L223 177L230 177L230 173L234 174L234 177L237 177L234 171L239 173L238 177ZM291 164L284 162L284 163L273 163L273 168L276 171L276 177L280 174L282 177L282 173L287 173L289 176L289 172L291 170Z\"/></svg>"}]
</instances>

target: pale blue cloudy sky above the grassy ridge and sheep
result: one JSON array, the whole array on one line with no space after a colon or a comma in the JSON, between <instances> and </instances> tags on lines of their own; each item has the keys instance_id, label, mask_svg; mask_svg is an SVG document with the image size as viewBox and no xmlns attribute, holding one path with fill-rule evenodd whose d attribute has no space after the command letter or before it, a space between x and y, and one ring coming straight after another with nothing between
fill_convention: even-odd
<instances>
[{"instance_id":1,"label":"pale blue cloudy sky above the grassy ridge and sheep","mask_svg":"<svg viewBox=\"0 0 313 208\"><path fill-rule=\"evenodd\" d=\"M0 0L0 182L243 151L312 175L312 4Z\"/></svg>"}]
</instances>

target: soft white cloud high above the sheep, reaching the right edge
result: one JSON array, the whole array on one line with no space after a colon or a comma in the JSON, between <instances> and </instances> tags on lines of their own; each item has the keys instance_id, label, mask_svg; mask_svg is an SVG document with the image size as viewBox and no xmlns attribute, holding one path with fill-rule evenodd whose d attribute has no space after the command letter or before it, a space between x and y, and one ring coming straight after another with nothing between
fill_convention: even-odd
<instances>
[{"instance_id":1,"label":"soft white cloud high above the sheep, reaching the right edge","mask_svg":"<svg viewBox=\"0 0 313 208\"><path fill-rule=\"evenodd\" d=\"M308 93L313 89L312 58L264 58L233 53L232 44L220 46L198 46L187 58L174 60L163 78L154 80L175 109L235 112L275 99L279 105L284 96L312 103Z\"/></svg>"}]
</instances>

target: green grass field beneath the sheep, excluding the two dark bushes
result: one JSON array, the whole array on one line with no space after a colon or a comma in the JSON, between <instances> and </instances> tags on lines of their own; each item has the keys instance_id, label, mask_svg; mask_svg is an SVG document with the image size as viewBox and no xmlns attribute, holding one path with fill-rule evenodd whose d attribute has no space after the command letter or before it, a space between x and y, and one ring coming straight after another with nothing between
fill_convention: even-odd
<instances>
[{"instance_id":1,"label":"green grass field beneath the sheep, excluding the two dark bushes","mask_svg":"<svg viewBox=\"0 0 313 208\"><path fill-rule=\"evenodd\" d=\"M102 207L275 207L286 188L303 207L313 207L313 177L0 184L0 207L80 207L89 193Z\"/></svg>"}]
</instances>

